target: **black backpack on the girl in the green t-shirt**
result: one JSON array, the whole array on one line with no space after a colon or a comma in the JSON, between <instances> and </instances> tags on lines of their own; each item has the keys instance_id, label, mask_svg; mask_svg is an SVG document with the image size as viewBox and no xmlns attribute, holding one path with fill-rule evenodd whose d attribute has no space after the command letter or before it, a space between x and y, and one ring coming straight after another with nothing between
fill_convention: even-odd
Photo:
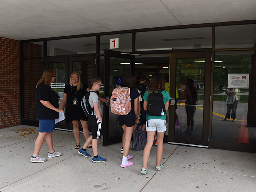
<instances>
[{"instance_id":1,"label":"black backpack on the girl in the green t-shirt","mask_svg":"<svg viewBox=\"0 0 256 192\"><path fill-rule=\"evenodd\" d=\"M165 112L164 96L158 90L157 93L149 93L147 114L161 116Z\"/></svg>"}]
</instances>

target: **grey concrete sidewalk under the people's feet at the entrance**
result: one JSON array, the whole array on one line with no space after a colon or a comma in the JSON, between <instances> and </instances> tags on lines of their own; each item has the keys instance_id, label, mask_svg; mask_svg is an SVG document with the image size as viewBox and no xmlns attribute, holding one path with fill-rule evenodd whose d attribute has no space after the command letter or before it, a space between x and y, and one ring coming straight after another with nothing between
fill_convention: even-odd
<instances>
[{"instance_id":1,"label":"grey concrete sidewalk under the people's feet at the entrance","mask_svg":"<svg viewBox=\"0 0 256 192\"><path fill-rule=\"evenodd\" d=\"M0 129L0 192L256 191L255 153L164 144L164 168L157 172L156 146L153 145L148 162L150 172L142 175L143 151L130 150L134 164L121 168L121 143L103 146L101 138L98 152L107 161L92 163L92 157L85 158L77 153L72 132L57 130L53 131L53 145L63 155L44 163L31 163L38 130L27 125ZM80 138L83 145L82 134ZM92 149L87 152L93 155ZM44 143L40 156L47 158L47 153Z\"/></svg>"}]
</instances>

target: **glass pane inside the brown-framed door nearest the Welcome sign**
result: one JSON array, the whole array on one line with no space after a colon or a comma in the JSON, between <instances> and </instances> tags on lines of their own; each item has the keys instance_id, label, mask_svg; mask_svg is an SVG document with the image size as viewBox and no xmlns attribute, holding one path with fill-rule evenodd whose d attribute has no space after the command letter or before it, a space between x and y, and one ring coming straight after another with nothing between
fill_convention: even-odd
<instances>
[{"instance_id":1,"label":"glass pane inside the brown-framed door nearest the Welcome sign","mask_svg":"<svg viewBox=\"0 0 256 192\"><path fill-rule=\"evenodd\" d=\"M176 59L175 137L203 139L205 58Z\"/></svg>"}]
</instances>

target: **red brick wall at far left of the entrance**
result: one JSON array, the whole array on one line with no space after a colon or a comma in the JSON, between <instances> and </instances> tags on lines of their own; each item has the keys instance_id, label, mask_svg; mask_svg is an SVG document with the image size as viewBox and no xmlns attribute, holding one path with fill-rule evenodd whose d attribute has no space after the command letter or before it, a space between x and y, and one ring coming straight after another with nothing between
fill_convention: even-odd
<instances>
[{"instance_id":1,"label":"red brick wall at far left of the entrance","mask_svg":"<svg viewBox=\"0 0 256 192\"><path fill-rule=\"evenodd\" d=\"M19 41L0 37L0 129L20 124Z\"/></svg>"}]
</instances>

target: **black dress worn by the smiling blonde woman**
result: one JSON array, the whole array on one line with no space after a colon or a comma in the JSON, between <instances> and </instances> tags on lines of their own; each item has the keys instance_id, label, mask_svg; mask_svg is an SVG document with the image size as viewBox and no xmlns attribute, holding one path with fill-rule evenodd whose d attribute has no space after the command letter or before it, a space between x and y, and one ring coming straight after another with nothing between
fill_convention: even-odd
<instances>
[{"instance_id":1,"label":"black dress worn by the smiling blonde woman","mask_svg":"<svg viewBox=\"0 0 256 192\"><path fill-rule=\"evenodd\" d=\"M76 91L77 86L71 86L67 85L64 88L64 93L67 94L67 102L66 102L66 117L65 121L66 123L72 122L73 120L84 120L87 121L88 118L85 115L82 107L81 107L81 101L86 93L86 89L88 88L87 85L83 84L83 87L79 89L79 91ZM72 93L71 93L72 89ZM73 95L73 96L72 96ZM73 100L77 99L77 105L73 105Z\"/></svg>"}]
</instances>

